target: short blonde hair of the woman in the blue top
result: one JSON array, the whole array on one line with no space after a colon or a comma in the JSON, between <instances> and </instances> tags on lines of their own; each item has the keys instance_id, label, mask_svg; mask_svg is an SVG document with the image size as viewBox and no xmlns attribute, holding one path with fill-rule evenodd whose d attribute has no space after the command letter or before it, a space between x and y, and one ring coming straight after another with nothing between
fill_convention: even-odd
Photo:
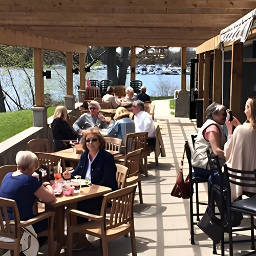
<instances>
[{"instance_id":1,"label":"short blonde hair of the woman in the blue top","mask_svg":"<svg viewBox=\"0 0 256 256\"><path fill-rule=\"evenodd\" d=\"M16 154L15 158L17 169L26 171L26 170L35 170L39 167L39 161L37 156L30 151L19 151Z\"/></svg>"}]
</instances>

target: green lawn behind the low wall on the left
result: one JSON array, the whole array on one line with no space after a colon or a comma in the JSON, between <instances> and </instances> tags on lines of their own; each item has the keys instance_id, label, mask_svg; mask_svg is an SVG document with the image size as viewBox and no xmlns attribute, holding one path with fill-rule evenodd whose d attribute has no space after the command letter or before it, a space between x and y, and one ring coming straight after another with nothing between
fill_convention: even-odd
<instances>
[{"instance_id":1,"label":"green lawn behind the low wall on the left","mask_svg":"<svg viewBox=\"0 0 256 256\"><path fill-rule=\"evenodd\" d=\"M54 114L56 106L47 109L47 117ZM32 127L32 110L20 110L7 113L0 113L0 143L12 136Z\"/></svg>"}]
</instances>

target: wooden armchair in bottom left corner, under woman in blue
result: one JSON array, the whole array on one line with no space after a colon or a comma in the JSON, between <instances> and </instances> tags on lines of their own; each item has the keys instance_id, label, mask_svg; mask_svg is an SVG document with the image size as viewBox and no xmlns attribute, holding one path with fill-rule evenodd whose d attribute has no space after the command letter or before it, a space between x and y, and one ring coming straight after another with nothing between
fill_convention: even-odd
<instances>
[{"instance_id":1,"label":"wooden armchair in bottom left corner, under woman in blue","mask_svg":"<svg viewBox=\"0 0 256 256\"><path fill-rule=\"evenodd\" d=\"M14 220L10 219L8 212L13 212ZM48 219L48 229L37 233L37 237L48 236L48 255L53 255L54 251L54 211L47 211L33 219L20 221L17 204L12 199L0 198L0 237L9 239L9 242L0 241L0 248L13 251L11 255L18 256L20 250L20 238L24 228L39 221Z\"/></svg>"}]
</instances>

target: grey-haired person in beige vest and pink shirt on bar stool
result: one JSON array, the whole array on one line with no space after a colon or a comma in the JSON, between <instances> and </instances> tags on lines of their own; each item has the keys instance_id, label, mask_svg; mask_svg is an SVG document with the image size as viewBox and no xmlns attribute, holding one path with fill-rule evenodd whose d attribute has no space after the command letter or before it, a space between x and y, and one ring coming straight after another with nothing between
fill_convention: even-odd
<instances>
[{"instance_id":1,"label":"grey-haired person in beige vest and pink shirt on bar stool","mask_svg":"<svg viewBox=\"0 0 256 256\"><path fill-rule=\"evenodd\" d=\"M207 178L210 175L205 172L205 169L210 170L207 150L219 157L221 166L225 163L223 149L227 139L221 125L226 121L227 112L225 106L214 102L208 106L205 115L207 120L198 132L191 163L198 177Z\"/></svg>"}]
</instances>

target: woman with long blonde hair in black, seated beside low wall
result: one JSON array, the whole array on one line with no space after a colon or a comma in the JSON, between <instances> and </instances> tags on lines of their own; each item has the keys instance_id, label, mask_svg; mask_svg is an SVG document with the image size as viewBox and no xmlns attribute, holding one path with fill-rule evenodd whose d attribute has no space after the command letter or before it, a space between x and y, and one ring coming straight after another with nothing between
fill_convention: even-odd
<instances>
[{"instance_id":1,"label":"woman with long blonde hair in black, seated beside low wall","mask_svg":"<svg viewBox=\"0 0 256 256\"><path fill-rule=\"evenodd\" d=\"M77 134L71 129L67 122L68 110L65 106L57 106L51 124L53 138L55 139L56 150L65 150L68 144L62 140L76 140Z\"/></svg>"}]
</instances>

